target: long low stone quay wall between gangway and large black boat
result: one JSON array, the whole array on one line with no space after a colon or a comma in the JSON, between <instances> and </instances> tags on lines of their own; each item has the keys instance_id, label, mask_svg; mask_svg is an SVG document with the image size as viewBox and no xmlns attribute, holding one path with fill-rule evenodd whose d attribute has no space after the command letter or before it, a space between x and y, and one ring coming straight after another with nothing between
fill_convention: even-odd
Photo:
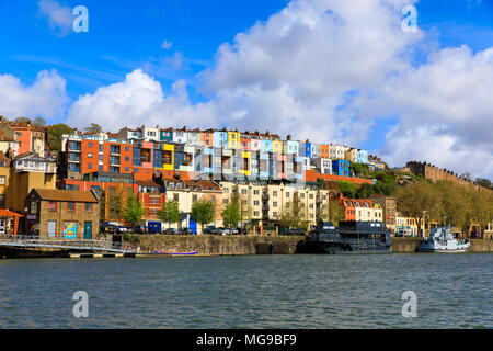
<instances>
[{"instance_id":1,"label":"long low stone quay wall between gangway and large black boat","mask_svg":"<svg viewBox=\"0 0 493 351\"><path fill-rule=\"evenodd\" d=\"M303 241L301 236L215 236L215 235L149 235L130 236L129 241L138 253L191 252L216 254L291 254Z\"/></svg>"}]
</instances>

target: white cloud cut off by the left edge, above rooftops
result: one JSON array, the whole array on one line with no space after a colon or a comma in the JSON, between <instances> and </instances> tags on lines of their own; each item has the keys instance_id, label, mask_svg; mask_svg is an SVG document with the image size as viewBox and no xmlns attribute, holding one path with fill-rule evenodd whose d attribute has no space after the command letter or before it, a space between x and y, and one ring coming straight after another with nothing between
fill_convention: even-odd
<instances>
[{"instance_id":1,"label":"white cloud cut off by the left edge, above rooftops","mask_svg":"<svg viewBox=\"0 0 493 351\"><path fill-rule=\"evenodd\" d=\"M41 71L32 86L11 75L0 75L0 106L7 117L61 117L68 103L66 81L55 70Z\"/></svg>"}]
</instances>

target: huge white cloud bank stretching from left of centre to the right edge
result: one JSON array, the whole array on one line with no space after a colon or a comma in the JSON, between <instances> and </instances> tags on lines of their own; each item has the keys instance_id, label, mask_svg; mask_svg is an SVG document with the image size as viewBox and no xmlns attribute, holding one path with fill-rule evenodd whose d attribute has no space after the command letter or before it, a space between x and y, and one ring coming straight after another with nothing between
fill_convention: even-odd
<instances>
[{"instance_id":1,"label":"huge white cloud bank stretching from left of centre to the right edge","mask_svg":"<svg viewBox=\"0 0 493 351\"><path fill-rule=\"evenodd\" d=\"M493 178L493 48L426 48L427 61L413 66L426 33L404 33L401 10L414 2L294 0L218 48L199 75L207 102L192 103L183 80L165 95L135 70L81 97L68 123L227 125L357 146L376 116L390 115L399 124L382 147L389 163Z\"/></svg>"}]
</instances>

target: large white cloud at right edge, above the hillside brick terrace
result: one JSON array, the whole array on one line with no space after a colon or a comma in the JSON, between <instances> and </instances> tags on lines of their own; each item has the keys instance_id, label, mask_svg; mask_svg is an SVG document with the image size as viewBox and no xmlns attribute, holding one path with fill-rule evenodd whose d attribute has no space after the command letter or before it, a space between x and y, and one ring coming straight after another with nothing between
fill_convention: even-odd
<instances>
[{"instance_id":1,"label":"large white cloud at right edge, above the hillside brick terrace","mask_svg":"<svg viewBox=\"0 0 493 351\"><path fill-rule=\"evenodd\" d=\"M368 116L400 116L382 149L394 165L421 159L493 176L493 48L440 49L357 103Z\"/></svg>"}]
</instances>

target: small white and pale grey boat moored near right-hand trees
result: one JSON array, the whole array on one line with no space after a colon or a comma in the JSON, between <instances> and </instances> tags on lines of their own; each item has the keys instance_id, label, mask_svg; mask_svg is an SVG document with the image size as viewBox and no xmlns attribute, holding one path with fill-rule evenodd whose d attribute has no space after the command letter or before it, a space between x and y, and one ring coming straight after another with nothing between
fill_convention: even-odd
<instances>
[{"instance_id":1,"label":"small white and pale grey boat moored near right-hand trees","mask_svg":"<svg viewBox=\"0 0 493 351\"><path fill-rule=\"evenodd\" d=\"M471 247L468 239L456 239L450 227L434 228L429 236L420 242L420 252L466 252Z\"/></svg>"}]
</instances>

